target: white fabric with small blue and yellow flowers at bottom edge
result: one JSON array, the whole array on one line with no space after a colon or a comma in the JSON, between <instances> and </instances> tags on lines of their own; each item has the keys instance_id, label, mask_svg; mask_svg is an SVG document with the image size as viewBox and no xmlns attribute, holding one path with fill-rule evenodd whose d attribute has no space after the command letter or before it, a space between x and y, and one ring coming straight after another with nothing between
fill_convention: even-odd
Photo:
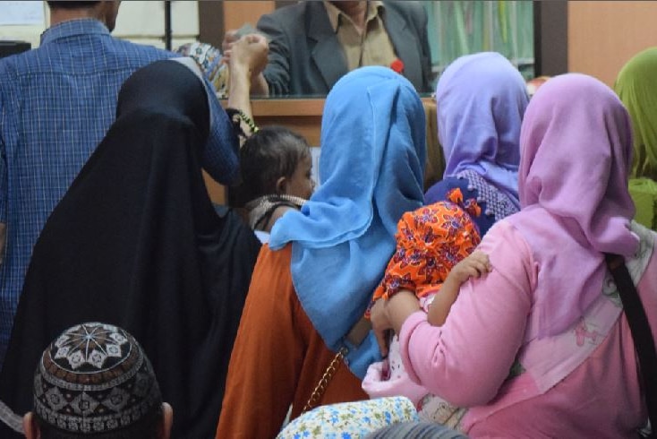
<instances>
[{"instance_id":1,"label":"white fabric with small blue and yellow flowers at bottom edge","mask_svg":"<svg viewBox=\"0 0 657 439\"><path fill-rule=\"evenodd\" d=\"M290 422L277 439L364 437L380 428L417 421L417 411L404 397L379 398L321 406Z\"/></svg>"}]
</instances>

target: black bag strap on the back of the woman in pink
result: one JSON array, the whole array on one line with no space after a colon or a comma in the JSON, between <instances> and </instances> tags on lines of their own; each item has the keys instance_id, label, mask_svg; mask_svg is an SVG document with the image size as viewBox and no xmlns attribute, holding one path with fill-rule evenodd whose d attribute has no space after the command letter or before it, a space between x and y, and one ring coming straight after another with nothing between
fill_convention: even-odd
<instances>
[{"instance_id":1,"label":"black bag strap on the back of the woman in pink","mask_svg":"<svg viewBox=\"0 0 657 439\"><path fill-rule=\"evenodd\" d=\"M644 383L645 403L648 407L650 425L657 429L657 352L654 348L653 332L645 316L641 298L625 266L625 260L618 254L605 254L605 261L611 272L616 287L619 288L620 300L627 316L627 323L635 342L639 371Z\"/></svg>"}]
</instances>

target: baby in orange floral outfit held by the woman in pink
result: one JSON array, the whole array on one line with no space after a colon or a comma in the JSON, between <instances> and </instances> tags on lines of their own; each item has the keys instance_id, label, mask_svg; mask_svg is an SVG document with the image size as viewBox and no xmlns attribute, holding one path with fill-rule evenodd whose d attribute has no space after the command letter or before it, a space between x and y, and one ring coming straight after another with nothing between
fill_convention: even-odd
<instances>
[{"instance_id":1,"label":"baby in orange floral outfit held by the woman in pink","mask_svg":"<svg viewBox=\"0 0 657 439\"><path fill-rule=\"evenodd\" d=\"M457 201L463 199L457 195ZM429 323L445 323L461 284L491 270L488 256L474 252L481 237L471 217L477 212L467 212L473 209L478 209L476 203L436 202L406 212L397 224L397 251L372 304L407 289L420 299ZM397 335L391 337L388 357L369 367L363 390L371 398L405 396L413 400L420 417L443 425L456 426L465 412L411 381L399 356Z\"/></svg>"}]
</instances>

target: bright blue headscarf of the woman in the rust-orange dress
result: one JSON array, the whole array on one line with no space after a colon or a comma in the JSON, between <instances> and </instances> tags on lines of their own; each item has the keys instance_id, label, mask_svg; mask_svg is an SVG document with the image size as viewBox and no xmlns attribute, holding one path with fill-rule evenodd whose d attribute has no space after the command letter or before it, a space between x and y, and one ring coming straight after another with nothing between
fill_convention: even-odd
<instances>
[{"instance_id":1,"label":"bright blue headscarf of the woman in the rust-orange dress","mask_svg":"<svg viewBox=\"0 0 657 439\"><path fill-rule=\"evenodd\" d=\"M269 246L292 242L292 279L330 349L362 316L395 251L397 221L422 205L425 127L413 85L385 67L346 74L321 121L320 188L277 221ZM357 376L380 358L372 333L348 346Z\"/></svg>"}]
</instances>

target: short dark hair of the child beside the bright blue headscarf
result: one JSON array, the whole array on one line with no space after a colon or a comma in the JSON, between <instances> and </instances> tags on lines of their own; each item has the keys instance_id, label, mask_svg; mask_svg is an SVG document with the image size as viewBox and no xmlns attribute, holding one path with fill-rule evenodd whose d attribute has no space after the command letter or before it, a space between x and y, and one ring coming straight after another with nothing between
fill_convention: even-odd
<instances>
[{"instance_id":1,"label":"short dark hair of the child beside the bright blue headscarf","mask_svg":"<svg viewBox=\"0 0 657 439\"><path fill-rule=\"evenodd\" d=\"M276 194L281 176L291 177L299 162L310 155L302 135L285 126L265 126L254 133L240 150L239 204L267 194Z\"/></svg>"}]
</instances>

